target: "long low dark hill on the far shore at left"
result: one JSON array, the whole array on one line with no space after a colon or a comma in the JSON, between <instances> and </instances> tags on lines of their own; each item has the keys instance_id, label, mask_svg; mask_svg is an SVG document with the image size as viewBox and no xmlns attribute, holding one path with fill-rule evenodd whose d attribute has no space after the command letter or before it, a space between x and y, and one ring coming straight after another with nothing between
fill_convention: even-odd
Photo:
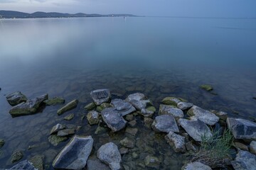
<instances>
[{"instance_id":1,"label":"long low dark hill on the far shore at left","mask_svg":"<svg viewBox=\"0 0 256 170\"><path fill-rule=\"evenodd\" d=\"M87 14L87 13L56 13L56 12L35 12L35 13L23 13L18 11L0 11L0 18L71 18L71 17L110 17L110 16L134 16L131 14L109 14L101 15L97 13Z\"/></svg>"}]
</instances>

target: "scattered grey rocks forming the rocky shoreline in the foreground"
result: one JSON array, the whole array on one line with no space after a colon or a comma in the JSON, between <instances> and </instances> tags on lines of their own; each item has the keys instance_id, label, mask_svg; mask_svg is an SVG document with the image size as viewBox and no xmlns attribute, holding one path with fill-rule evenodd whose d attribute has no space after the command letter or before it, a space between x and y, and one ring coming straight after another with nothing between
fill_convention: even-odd
<instances>
[{"instance_id":1,"label":"scattered grey rocks forming the rocky shoreline in the foreground","mask_svg":"<svg viewBox=\"0 0 256 170\"><path fill-rule=\"evenodd\" d=\"M210 86L202 86L206 91L212 91ZM256 123L240 118L228 118L228 113L222 111L206 111L199 106L189 103L183 98L166 97L161 101L159 111L156 113L152 101L141 93L130 94L122 100L112 98L109 89L98 89L91 91L92 103L85 106L87 121L90 125L97 126L97 132L104 130L106 126L113 133L125 130L129 137L119 141L119 147L114 142L107 142L97 149L97 154L92 154L95 145L91 136L75 135L79 127L55 125L50 130L49 142L53 146L68 140L70 142L55 157L53 168L55 169L133 169L127 164L122 164L122 155L132 152L135 149L135 136L140 132L134 128L136 120L134 116L140 116L144 125L151 128L155 133L165 134L166 142L174 149L174 152L181 154L196 154L201 149L203 137L210 139L215 131L223 135L224 130L230 130L233 135L232 149L235 149L235 157L227 157L227 162L213 166L207 162L186 162L183 169L256 169ZM28 115L37 113L43 105L57 105L65 103L63 98L48 99L48 94L38 98L28 99L17 91L6 96L7 101L13 108L10 110L12 116ZM58 115L77 107L78 100L70 101L58 110ZM73 118L73 114L65 116L66 120ZM96 133L96 132L95 132ZM4 140L1 146L4 145ZM3 143L3 144L2 144ZM248 149L247 146L250 146ZM22 152L12 155L13 163L23 157ZM139 157L139 152L132 152L132 157ZM33 160L34 161L34 160ZM34 161L35 162L35 161ZM42 157L37 157L43 167ZM148 154L143 162L139 162L140 169L159 169L162 160L154 154ZM224 167L223 167L224 165ZM38 169L38 164L31 160L19 162L11 169Z\"/></svg>"}]
</instances>

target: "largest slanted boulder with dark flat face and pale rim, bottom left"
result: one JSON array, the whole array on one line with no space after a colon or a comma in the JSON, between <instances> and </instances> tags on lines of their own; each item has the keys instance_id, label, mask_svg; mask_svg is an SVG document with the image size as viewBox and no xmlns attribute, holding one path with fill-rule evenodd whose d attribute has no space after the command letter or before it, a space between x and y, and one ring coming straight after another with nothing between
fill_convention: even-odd
<instances>
[{"instance_id":1,"label":"largest slanted boulder with dark flat face and pale rim, bottom left","mask_svg":"<svg viewBox=\"0 0 256 170\"><path fill-rule=\"evenodd\" d=\"M83 169L92 151L93 140L88 137L73 137L53 162L55 169Z\"/></svg>"}]
</instances>

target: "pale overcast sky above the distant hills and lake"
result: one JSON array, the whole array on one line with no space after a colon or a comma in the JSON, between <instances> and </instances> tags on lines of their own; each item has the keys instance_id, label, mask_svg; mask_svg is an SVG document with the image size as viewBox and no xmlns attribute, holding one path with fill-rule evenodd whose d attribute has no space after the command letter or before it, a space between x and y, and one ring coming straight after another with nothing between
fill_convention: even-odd
<instances>
[{"instance_id":1,"label":"pale overcast sky above the distant hills and lake","mask_svg":"<svg viewBox=\"0 0 256 170\"><path fill-rule=\"evenodd\" d=\"M0 10L256 17L256 0L0 0Z\"/></svg>"}]
</instances>

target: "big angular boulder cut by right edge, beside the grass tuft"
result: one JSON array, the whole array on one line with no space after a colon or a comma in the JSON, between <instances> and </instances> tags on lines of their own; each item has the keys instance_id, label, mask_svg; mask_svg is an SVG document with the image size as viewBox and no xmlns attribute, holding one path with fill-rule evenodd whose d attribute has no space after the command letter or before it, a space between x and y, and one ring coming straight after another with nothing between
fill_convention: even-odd
<instances>
[{"instance_id":1,"label":"big angular boulder cut by right edge, beside the grass tuft","mask_svg":"<svg viewBox=\"0 0 256 170\"><path fill-rule=\"evenodd\" d=\"M256 140L256 123L240 118L227 118L227 124L235 139Z\"/></svg>"}]
</instances>

